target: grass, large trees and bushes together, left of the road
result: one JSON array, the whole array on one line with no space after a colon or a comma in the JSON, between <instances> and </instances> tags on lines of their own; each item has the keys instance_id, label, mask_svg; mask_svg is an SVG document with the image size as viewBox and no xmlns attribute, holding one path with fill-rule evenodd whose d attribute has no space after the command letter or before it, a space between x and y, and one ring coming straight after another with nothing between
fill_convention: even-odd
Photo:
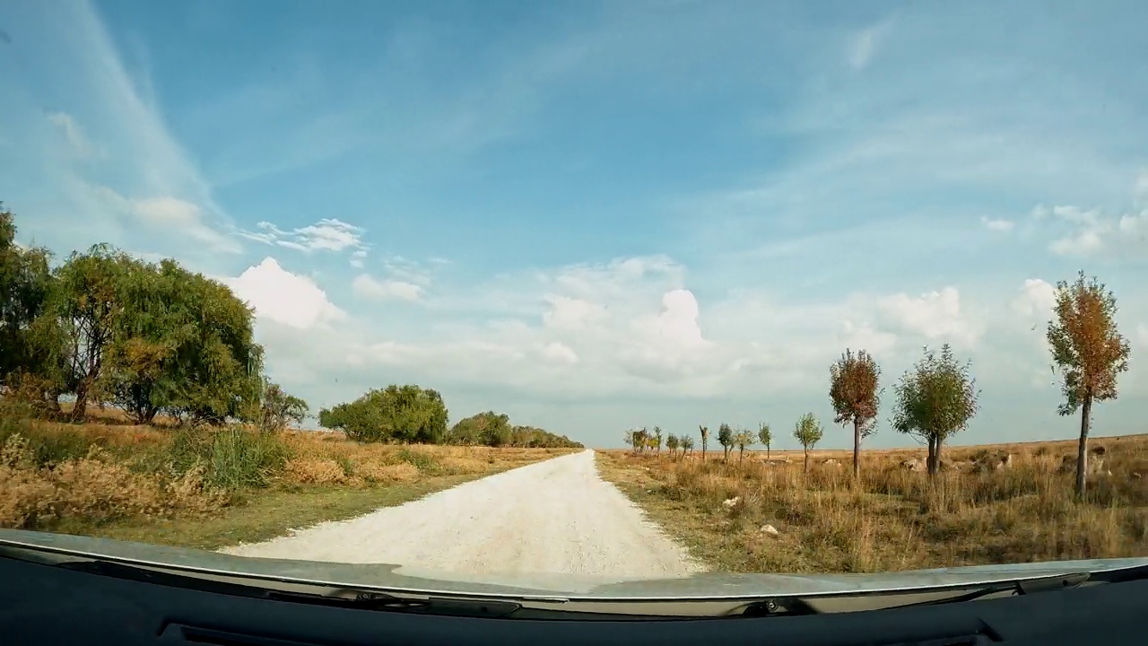
<instances>
[{"instance_id":1,"label":"grass, large trees and bushes together, left of the road","mask_svg":"<svg viewBox=\"0 0 1148 646\"><path fill-rule=\"evenodd\" d=\"M495 413L448 429L417 385L292 429L309 406L226 285L106 245L54 263L15 233L0 210L0 526L218 547L581 447Z\"/></svg>"}]
</instances>

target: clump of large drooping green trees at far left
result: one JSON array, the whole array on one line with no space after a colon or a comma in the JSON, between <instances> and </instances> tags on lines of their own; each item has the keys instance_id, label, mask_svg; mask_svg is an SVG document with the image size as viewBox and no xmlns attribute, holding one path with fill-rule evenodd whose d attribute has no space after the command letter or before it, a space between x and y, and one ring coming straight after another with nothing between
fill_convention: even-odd
<instances>
[{"instance_id":1,"label":"clump of large drooping green trees at far left","mask_svg":"<svg viewBox=\"0 0 1148 646\"><path fill-rule=\"evenodd\" d=\"M16 244L0 209L0 391L72 420L113 405L138 423L245 420L285 425L307 403L263 375L254 313L217 280L95 245L52 267Z\"/></svg>"}]
</instances>

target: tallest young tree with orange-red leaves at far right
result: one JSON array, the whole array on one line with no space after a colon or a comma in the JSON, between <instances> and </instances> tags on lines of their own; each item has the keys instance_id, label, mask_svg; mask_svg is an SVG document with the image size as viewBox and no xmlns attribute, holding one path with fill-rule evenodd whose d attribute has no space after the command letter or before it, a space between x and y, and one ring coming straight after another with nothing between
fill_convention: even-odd
<instances>
[{"instance_id":1,"label":"tallest young tree with orange-red leaves at far right","mask_svg":"<svg viewBox=\"0 0 1148 646\"><path fill-rule=\"evenodd\" d=\"M1079 272L1071 285L1056 285L1055 318L1048 322L1048 345L1053 370L1061 370L1064 402L1061 415L1080 410L1080 441L1077 445L1076 493L1084 498L1088 467L1088 431L1092 405L1116 399L1116 377L1128 369L1132 353L1127 339L1116 329L1116 297L1095 277Z\"/></svg>"}]
</instances>

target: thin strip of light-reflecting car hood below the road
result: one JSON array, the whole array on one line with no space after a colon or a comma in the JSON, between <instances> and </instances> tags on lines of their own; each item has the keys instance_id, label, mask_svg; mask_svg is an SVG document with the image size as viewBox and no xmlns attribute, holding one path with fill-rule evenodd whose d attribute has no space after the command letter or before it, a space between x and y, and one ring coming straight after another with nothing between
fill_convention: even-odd
<instances>
[{"instance_id":1,"label":"thin strip of light-reflecting car hood below the road","mask_svg":"<svg viewBox=\"0 0 1148 646\"><path fill-rule=\"evenodd\" d=\"M1096 559L882 574L699 572L654 578L621 578L561 572L464 574L422 569L411 564L258 559L205 549L83 536L0 530L0 552L10 548L21 548L22 552L30 549L47 561L96 559L187 572L297 584L421 594L602 601L719 600L914 591L1148 566L1148 559Z\"/></svg>"}]
</instances>

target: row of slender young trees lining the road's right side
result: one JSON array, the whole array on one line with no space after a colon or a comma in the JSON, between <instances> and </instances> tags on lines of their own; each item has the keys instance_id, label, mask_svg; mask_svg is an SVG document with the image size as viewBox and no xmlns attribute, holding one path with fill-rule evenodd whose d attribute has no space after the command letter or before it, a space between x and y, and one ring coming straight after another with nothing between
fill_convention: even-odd
<instances>
[{"instance_id":1,"label":"row of slender young trees lining the road's right side","mask_svg":"<svg viewBox=\"0 0 1148 646\"><path fill-rule=\"evenodd\" d=\"M1046 339L1052 353L1052 368L1062 377L1063 401L1061 415L1080 412L1080 436L1077 446L1076 490L1085 492L1087 474L1088 434L1092 406L1116 399L1117 376L1128 369L1131 348L1119 333L1116 321L1116 297L1095 277L1086 278L1081 271L1073 283L1061 280L1056 286L1053 317L1048 322ZM980 391L970 374L970 362L959 361L948 344L940 352L924 348L924 356L906 371L893 386L895 401L890 421L893 430L914 436L928 447L928 472L934 476L941 463L941 447L955 433L965 429L978 410ZM846 349L829 369L829 398L833 407L833 422L853 430L853 476L861 474L861 444L876 432L881 406L881 367L866 351ZM709 429L698 428L701 437L703 459L709 441ZM808 413L794 425L793 437L805 451L808 469L809 449L823 436L817 418ZM721 424L718 443L722 459L729 460L737 448L738 460L746 447L760 441L767 451L773 432L761 424L757 434L746 429ZM684 443L684 444L683 444ZM654 426L626 431L626 444L635 453L661 451L662 432ZM666 446L672 455L681 446L692 447L690 437L668 436Z\"/></svg>"}]
</instances>

